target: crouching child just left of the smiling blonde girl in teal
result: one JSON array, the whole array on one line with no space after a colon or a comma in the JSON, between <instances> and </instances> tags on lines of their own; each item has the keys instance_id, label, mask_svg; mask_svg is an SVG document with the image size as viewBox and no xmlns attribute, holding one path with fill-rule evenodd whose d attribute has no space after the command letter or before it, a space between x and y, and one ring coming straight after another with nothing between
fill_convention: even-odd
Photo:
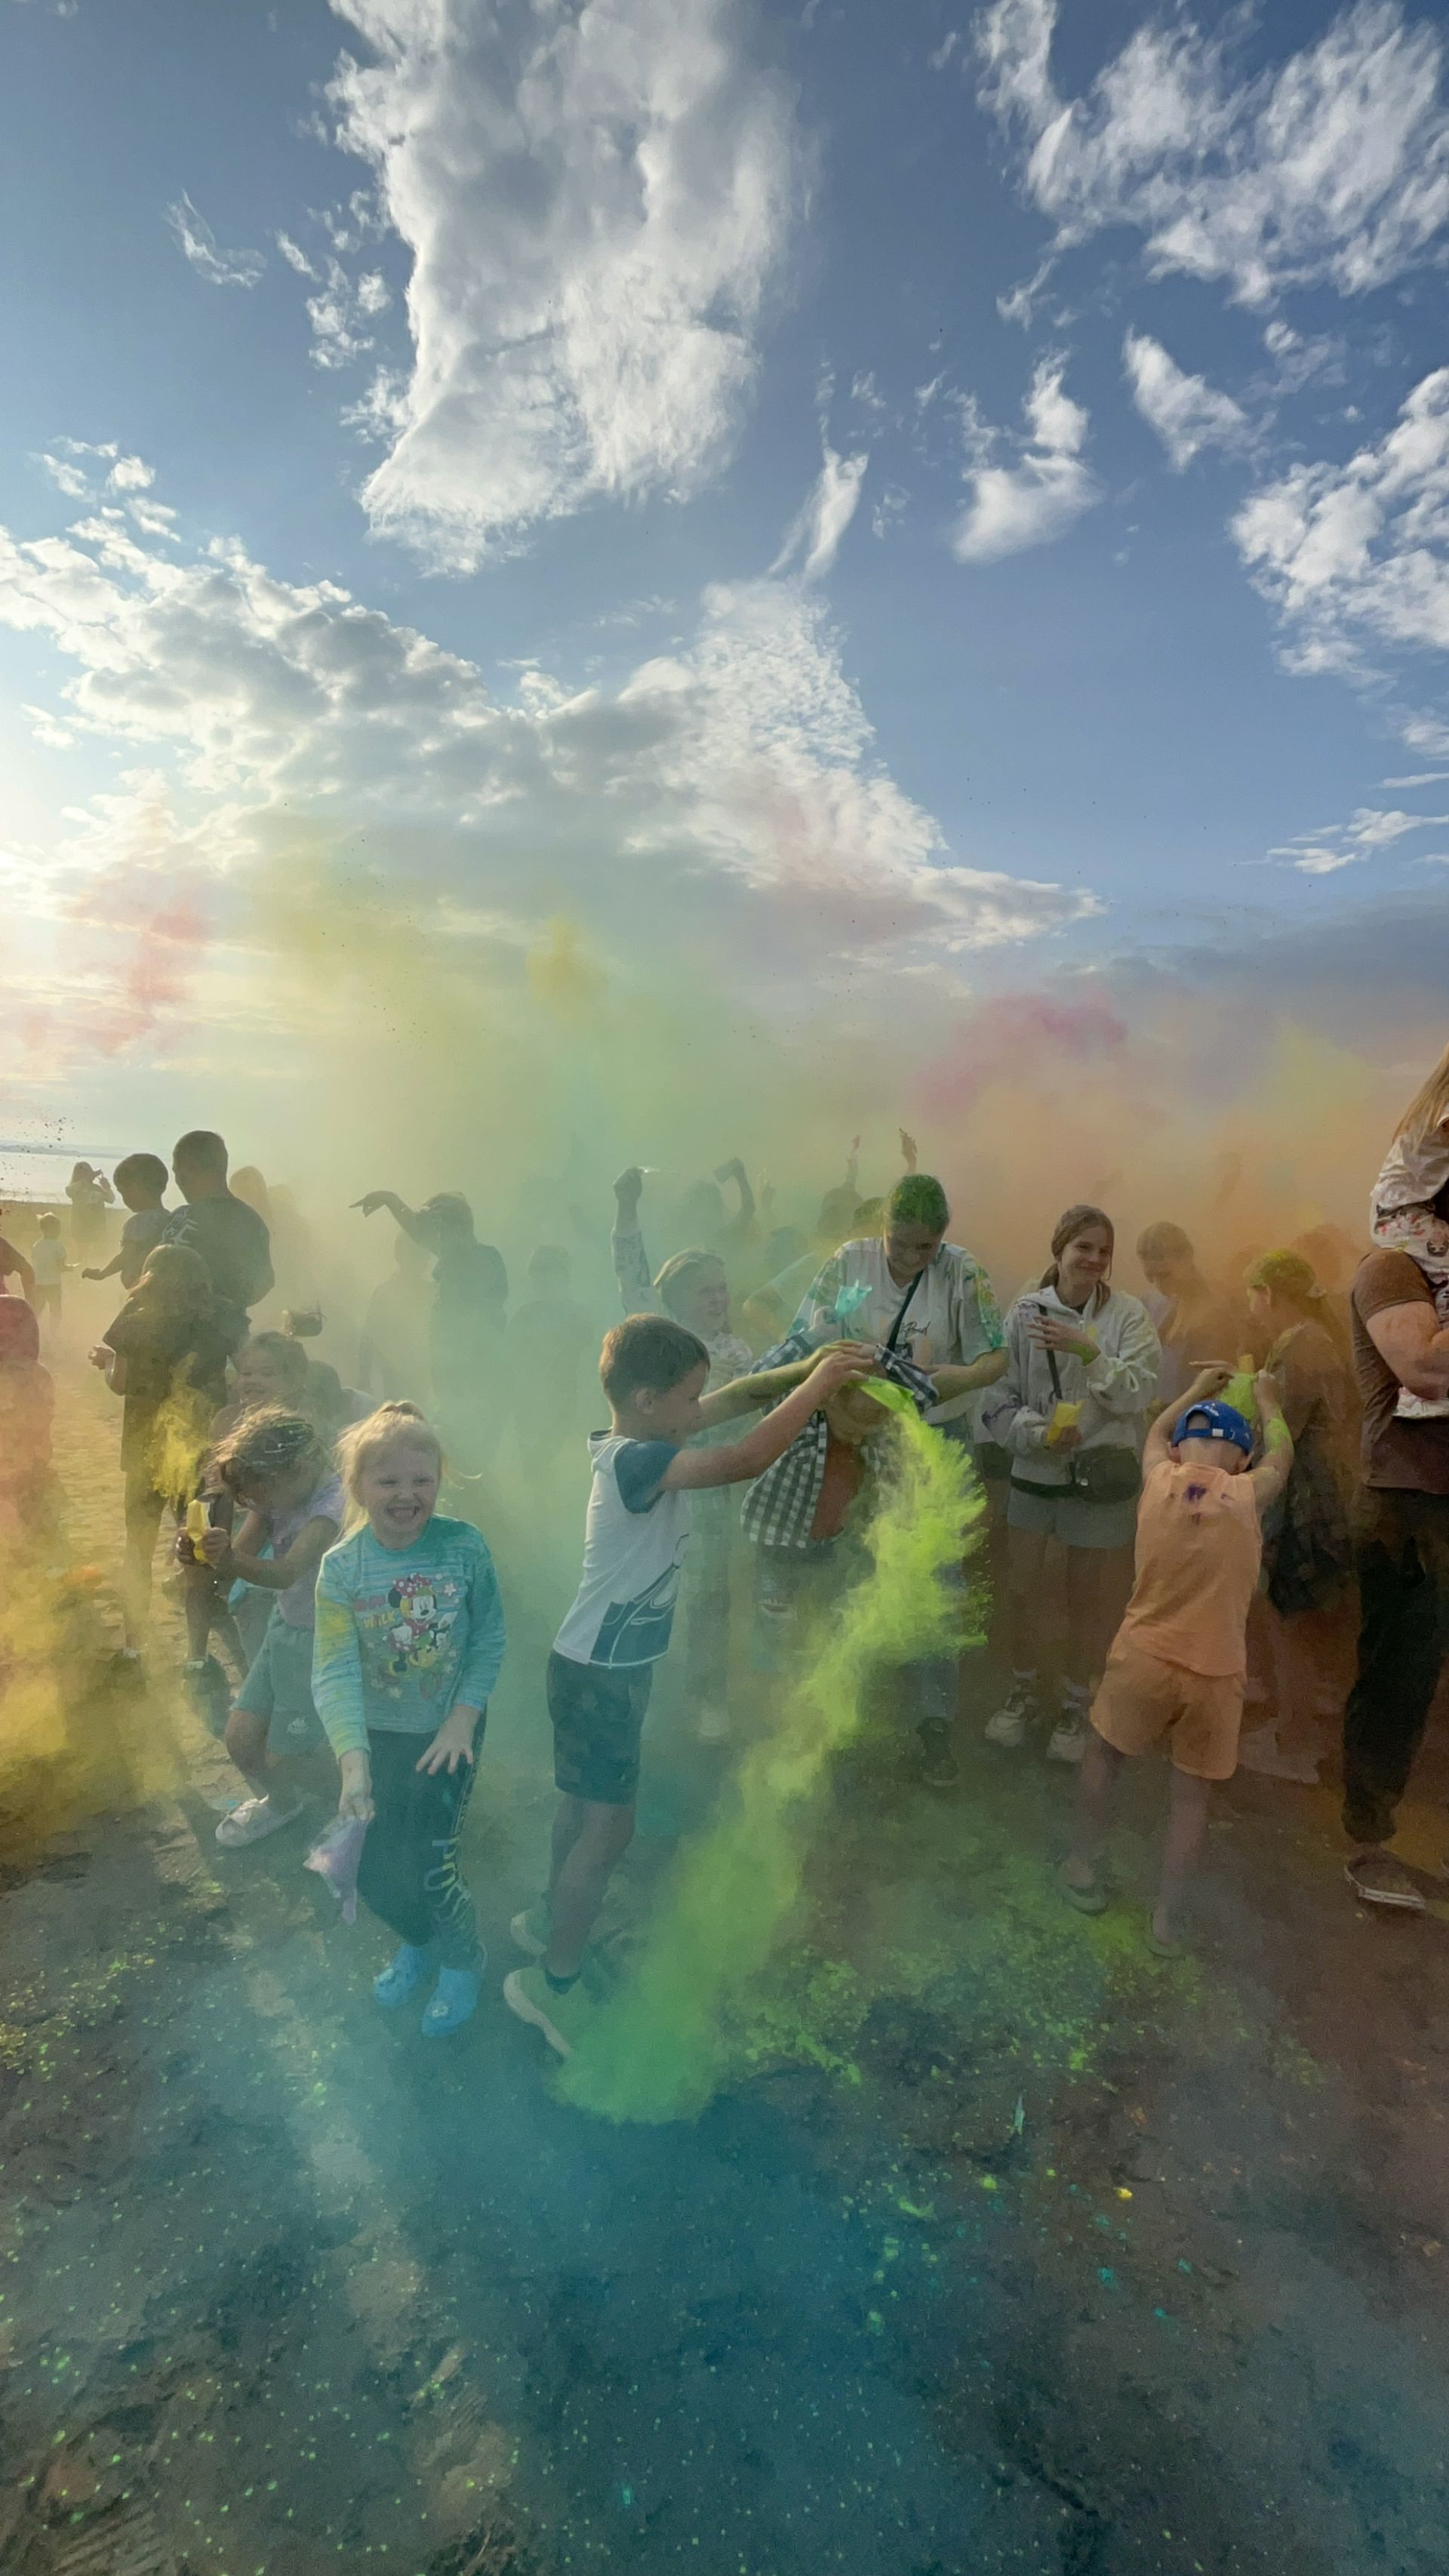
<instances>
[{"instance_id":1,"label":"crouching child just left of the smiling blonde girl in teal","mask_svg":"<svg viewBox=\"0 0 1449 2576\"><path fill-rule=\"evenodd\" d=\"M196 1548L221 1582L239 1579L270 1600L226 1718L226 1752L252 1795L221 1816L216 1842L239 1852L301 1816L293 1765L322 1741L311 1705L317 1569L342 1530L342 1484L317 1427L281 1404L247 1414L211 1468L245 1517L234 1533L206 1530Z\"/></svg>"}]
</instances>

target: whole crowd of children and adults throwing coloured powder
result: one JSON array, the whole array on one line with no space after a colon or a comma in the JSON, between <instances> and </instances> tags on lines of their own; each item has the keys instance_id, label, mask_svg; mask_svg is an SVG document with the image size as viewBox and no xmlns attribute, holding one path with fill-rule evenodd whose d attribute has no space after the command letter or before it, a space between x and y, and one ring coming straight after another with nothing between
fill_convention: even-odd
<instances>
[{"instance_id":1,"label":"whole crowd of children and adults throwing coloured powder","mask_svg":"<svg viewBox=\"0 0 1449 2576\"><path fill-rule=\"evenodd\" d=\"M1143 1935L1179 1950L1212 1783L1238 1765L1315 1780L1341 1716L1349 1880L1367 1904L1423 1909L1390 1842L1449 1654L1449 1051L1395 1131L1346 1298L1310 1239L1223 1280L1176 1221L1138 1236L1135 1296L1112 1216L1078 1203L1001 1316L906 1133L901 1159L865 1200L852 1154L811 1231L770 1229L764 1193L723 1164L685 1200L687 1242L661 1267L649 1175L615 1182L610 1425L589 1435L582 1579L538 1674L558 1790L548 1886L512 1924L525 1963L504 1981L561 2056L597 2012L589 1942L633 1837L677 1607L690 1718L723 1752L744 1620L754 1677L788 1690L831 1605L875 1579L872 1497L903 1412L965 1445L988 1497L939 1582L965 1602L983 1556L999 1574L1009 1682L986 1741L1076 1767L1066 1904L1112 1901L1117 1772L1163 1749ZM273 1291L270 1203L260 1175L239 1182L224 1141L190 1131L170 1167L129 1154L111 1182L77 1164L69 1234L51 1211L28 1252L0 1236L0 1535L54 1553L41 1334L69 1267L116 1278L124 1303L90 1360L121 1401L121 1669L144 1685L165 1525L185 1687L247 1790L219 1844L283 1832L322 1790L337 1821L319 1865L355 1875L399 1940L378 2004L427 1984L422 2032L448 2038L481 1991L458 1839L504 1659L468 1499L510 1425L535 1473L569 1458L592 1321L564 1247L533 1252L510 1314L504 1260L463 1195L414 1208L371 1190L358 1216L391 1216L394 1270L363 1321L363 1388L345 1386L309 1355L317 1309L252 1327ZM111 1195L126 1221L100 1262ZM950 1790L960 1659L906 1659L896 1700L919 1783Z\"/></svg>"}]
</instances>

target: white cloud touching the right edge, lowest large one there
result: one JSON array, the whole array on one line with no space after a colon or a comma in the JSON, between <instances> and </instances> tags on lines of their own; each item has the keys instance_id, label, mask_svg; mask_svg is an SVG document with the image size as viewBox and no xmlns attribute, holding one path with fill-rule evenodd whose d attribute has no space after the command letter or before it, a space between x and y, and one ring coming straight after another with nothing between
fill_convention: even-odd
<instances>
[{"instance_id":1,"label":"white cloud touching the right edge, lowest large one there","mask_svg":"<svg viewBox=\"0 0 1449 2576\"><path fill-rule=\"evenodd\" d=\"M1253 492L1233 538L1289 634L1295 670L1359 672L1364 644L1449 644L1449 368L1343 466L1300 464ZM1405 739L1431 750L1405 726Z\"/></svg>"}]
</instances>

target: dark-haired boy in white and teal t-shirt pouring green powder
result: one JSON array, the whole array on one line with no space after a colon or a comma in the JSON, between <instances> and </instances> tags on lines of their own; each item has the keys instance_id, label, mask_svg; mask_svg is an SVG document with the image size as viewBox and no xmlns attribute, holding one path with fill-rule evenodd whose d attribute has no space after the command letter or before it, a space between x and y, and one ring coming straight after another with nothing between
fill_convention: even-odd
<instances>
[{"instance_id":1,"label":"dark-haired boy in white and teal t-shirt pouring green powder","mask_svg":"<svg viewBox=\"0 0 1449 2576\"><path fill-rule=\"evenodd\" d=\"M870 1370L875 1352L836 1345L793 1368L759 1370L705 1396L710 1352L667 1316L631 1314L605 1334L600 1378L610 1430L589 1437L595 1484L584 1522L584 1577L553 1654L553 1875L548 1901L515 1919L538 1965L504 1978L504 2002L548 2045L571 2056L595 2002L579 1984L584 1942L613 1870L633 1839L638 1744L654 1667L669 1646L690 1494L749 1484L811 1414ZM785 1396L785 1401L780 1401ZM728 1448L685 1448L695 1432L772 1404Z\"/></svg>"}]
</instances>

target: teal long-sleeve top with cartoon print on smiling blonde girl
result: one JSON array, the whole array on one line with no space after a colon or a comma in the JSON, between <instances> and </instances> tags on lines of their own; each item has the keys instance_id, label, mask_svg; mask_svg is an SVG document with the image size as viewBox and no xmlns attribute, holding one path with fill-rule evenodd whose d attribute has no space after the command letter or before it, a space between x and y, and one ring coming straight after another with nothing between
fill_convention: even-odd
<instances>
[{"instance_id":1,"label":"teal long-sleeve top with cartoon print on smiling blonde girl","mask_svg":"<svg viewBox=\"0 0 1449 2576\"><path fill-rule=\"evenodd\" d=\"M456 1700L486 1708L504 1654L494 1561L468 1520L432 1515L412 1548L371 1528L317 1569L311 1698L337 1759L368 1736L435 1736Z\"/></svg>"}]
</instances>

